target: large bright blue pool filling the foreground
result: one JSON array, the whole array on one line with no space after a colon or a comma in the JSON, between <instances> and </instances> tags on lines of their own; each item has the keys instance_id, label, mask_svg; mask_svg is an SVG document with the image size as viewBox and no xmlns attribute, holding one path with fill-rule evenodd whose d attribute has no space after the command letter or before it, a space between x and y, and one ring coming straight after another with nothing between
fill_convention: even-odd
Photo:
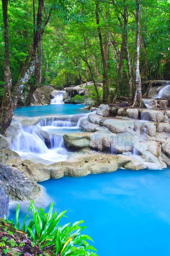
<instances>
[{"instance_id":1,"label":"large bright blue pool filling the foreground","mask_svg":"<svg viewBox=\"0 0 170 256\"><path fill-rule=\"evenodd\" d=\"M41 185L57 212L68 210L62 224L85 221L85 233L94 239L99 256L170 255L169 168L119 169Z\"/></svg>"}]
</instances>

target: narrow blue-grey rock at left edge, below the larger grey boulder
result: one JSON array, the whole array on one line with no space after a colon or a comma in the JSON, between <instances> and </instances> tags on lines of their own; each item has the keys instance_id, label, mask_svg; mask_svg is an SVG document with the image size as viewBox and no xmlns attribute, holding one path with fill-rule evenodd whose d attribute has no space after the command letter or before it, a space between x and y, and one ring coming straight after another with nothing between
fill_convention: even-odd
<instances>
[{"instance_id":1,"label":"narrow blue-grey rock at left edge, below the larger grey boulder","mask_svg":"<svg viewBox=\"0 0 170 256\"><path fill-rule=\"evenodd\" d=\"M8 208L9 208L9 198L5 192L5 186L2 181L0 181L0 218L6 215L8 218Z\"/></svg>"}]
</instances>

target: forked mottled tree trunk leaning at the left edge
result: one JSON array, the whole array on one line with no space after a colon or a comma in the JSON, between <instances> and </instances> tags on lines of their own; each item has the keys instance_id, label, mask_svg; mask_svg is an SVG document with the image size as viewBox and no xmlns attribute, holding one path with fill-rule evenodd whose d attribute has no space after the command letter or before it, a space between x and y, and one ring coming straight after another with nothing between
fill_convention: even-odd
<instances>
[{"instance_id":1,"label":"forked mottled tree trunk leaning at the left edge","mask_svg":"<svg viewBox=\"0 0 170 256\"><path fill-rule=\"evenodd\" d=\"M3 0L3 21L4 21L4 42L5 42L5 61L4 61L4 80L5 93L3 103L0 109L0 133L5 134L6 129L11 124L14 110L17 107L17 102L23 92L26 82L30 79L32 73L37 67L37 49L41 39L42 29L42 7L43 0L39 0L37 12L37 30L35 32L33 42L29 47L29 52L26 57L25 64L20 72L20 76L15 84L12 92L12 79L9 68L9 51L8 51L8 0Z\"/></svg>"}]
</instances>

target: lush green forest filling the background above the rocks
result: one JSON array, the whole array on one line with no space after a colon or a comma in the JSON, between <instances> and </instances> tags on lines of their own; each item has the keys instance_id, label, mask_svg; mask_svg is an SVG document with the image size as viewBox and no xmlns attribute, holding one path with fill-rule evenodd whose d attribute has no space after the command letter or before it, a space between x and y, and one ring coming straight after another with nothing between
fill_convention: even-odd
<instances>
[{"instance_id":1,"label":"lush green forest filling the background above the rocks","mask_svg":"<svg viewBox=\"0 0 170 256\"><path fill-rule=\"evenodd\" d=\"M53 84L61 89L93 81L96 104L115 103L118 96L133 102L137 92L135 107L142 106L141 79L170 79L168 0L3 0L1 10L2 3L0 100L4 90L10 94L11 112L26 93L26 83L31 86L26 105L37 87ZM33 55L35 65L18 90ZM1 116L2 109L3 104Z\"/></svg>"}]
</instances>

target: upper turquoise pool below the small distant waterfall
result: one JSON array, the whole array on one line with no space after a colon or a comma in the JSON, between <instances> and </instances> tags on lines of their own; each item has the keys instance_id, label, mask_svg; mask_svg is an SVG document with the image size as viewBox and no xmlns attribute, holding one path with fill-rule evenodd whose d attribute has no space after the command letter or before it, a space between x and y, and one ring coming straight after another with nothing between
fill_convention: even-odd
<instances>
[{"instance_id":1,"label":"upper turquoise pool below the small distant waterfall","mask_svg":"<svg viewBox=\"0 0 170 256\"><path fill-rule=\"evenodd\" d=\"M41 106L28 106L28 107L17 107L14 111L14 116L48 116L48 115L74 115L83 114L88 111L84 108L85 105L74 105L74 104L54 104L54 105L41 105Z\"/></svg>"}]
</instances>

